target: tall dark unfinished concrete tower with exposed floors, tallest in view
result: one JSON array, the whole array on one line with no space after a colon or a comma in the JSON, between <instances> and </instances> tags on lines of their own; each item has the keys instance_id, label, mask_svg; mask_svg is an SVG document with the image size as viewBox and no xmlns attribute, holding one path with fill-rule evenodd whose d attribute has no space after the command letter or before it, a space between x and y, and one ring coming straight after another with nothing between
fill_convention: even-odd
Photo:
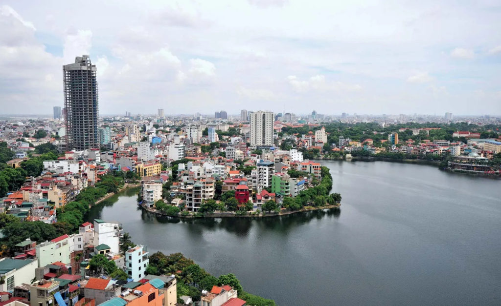
<instances>
[{"instance_id":1,"label":"tall dark unfinished concrete tower with exposed floors, tallest in view","mask_svg":"<svg viewBox=\"0 0 501 306\"><path fill-rule=\"evenodd\" d=\"M89 55L63 66L67 149L99 147L96 65Z\"/></svg>"}]
</instances>

